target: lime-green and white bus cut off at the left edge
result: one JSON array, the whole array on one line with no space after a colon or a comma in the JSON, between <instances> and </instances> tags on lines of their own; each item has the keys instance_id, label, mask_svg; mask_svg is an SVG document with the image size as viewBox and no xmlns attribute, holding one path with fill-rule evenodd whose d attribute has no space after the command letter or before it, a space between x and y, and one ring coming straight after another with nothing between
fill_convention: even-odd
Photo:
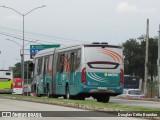
<instances>
[{"instance_id":1,"label":"lime-green and white bus cut off at the left edge","mask_svg":"<svg viewBox=\"0 0 160 120\"><path fill-rule=\"evenodd\" d=\"M0 93L12 93L13 71L0 70Z\"/></svg>"}]
</instances>

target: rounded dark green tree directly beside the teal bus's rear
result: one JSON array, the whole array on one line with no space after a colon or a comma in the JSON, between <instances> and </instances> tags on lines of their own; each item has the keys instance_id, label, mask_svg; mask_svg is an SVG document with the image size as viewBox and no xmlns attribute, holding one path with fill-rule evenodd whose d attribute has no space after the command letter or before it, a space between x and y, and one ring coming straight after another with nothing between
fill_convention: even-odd
<instances>
[{"instance_id":1,"label":"rounded dark green tree directly beside the teal bus's rear","mask_svg":"<svg viewBox=\"0 0 160 120\"><path fill-rule=\"evenodd\" d=\"M142 68L144 68L144 56L141 54L140 43L136 39L129 39L123 43L124 47L124 70L125 74L142 76ZM143 73L142 73L143 74Z\"/></svg>"}]
</instances>

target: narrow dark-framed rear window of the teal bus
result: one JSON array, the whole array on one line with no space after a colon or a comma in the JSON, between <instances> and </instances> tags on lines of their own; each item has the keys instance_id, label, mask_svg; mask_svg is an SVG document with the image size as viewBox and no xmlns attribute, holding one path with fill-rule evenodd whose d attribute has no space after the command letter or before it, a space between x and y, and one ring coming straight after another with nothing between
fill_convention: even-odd
<instances>
[{"instance_id":1,"label":"narrow dark-framed rear window of the teal bus","mask_svg":"<svg viewBox=\"0 0 160 120\"><path fill-rule=\"evenodd\" d=\"M94 69L117 69L119 64L114 62L106 61L94 61L87 63L90 68Z\"/></svg>"}]
</instances>

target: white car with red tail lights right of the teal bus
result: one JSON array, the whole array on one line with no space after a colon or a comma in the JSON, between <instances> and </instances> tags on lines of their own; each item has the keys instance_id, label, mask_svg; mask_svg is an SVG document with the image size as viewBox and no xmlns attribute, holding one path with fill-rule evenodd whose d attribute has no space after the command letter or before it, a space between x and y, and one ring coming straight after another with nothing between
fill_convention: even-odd
<instances>
[{"instance_id":1,"label":"white car with red tail lights right of the teal bus","mask_svg":"<svg viewBox=\"0 0 160 120\"><path fill-rule=\"evenodd\" d=\"M140 99L144 98L145 95L140 89L124 89L123 94L121 94L119 97L128 99Z\"/></svg>"}]
</instances>

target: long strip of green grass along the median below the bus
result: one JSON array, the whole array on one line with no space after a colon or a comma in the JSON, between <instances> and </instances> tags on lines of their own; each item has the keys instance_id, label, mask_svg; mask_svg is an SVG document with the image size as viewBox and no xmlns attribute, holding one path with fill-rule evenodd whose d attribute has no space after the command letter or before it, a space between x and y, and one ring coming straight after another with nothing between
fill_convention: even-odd
<instances>
[{"instance_id":1,"label":"long strip of green grass along the median below the bus","mask_svg":"<svg viewBox=\"0 0 160 120\"><path fill-rule=\"evenodd\" d=\"M22 96L22 95L11 95L11 94L0 94L1 97L9 97L9 99L25 100L25 101L37 101L47 104L77 104L84 105L89 107L98 107L98 108L108 108L116 111L125 110L125 111L160 111L160 108L146 108L146 107L136 107L136 106L126 106L119 105L116 103L101 103L96 101L87 101L87 100L67 100L63 98L46 98L46 97L32 97L32 96Z\"/></svg>"}]
</instances>

